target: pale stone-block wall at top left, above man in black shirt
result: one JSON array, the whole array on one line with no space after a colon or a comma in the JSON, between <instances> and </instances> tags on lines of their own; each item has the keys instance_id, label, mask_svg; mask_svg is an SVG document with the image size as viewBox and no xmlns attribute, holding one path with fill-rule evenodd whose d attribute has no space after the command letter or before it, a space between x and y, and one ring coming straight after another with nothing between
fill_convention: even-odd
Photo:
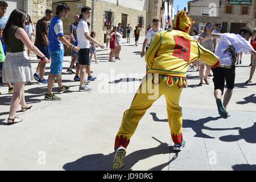
<instances>
[{"instance_id":1,"label":"pale stone-block wall at top left, above man in black shirt","mask_svg":"<svg viewBox=\"0 0 256 182\"><path fill-rule=\"evenodd\" d=\"M52 0L32 0L32 22L36 23L43 18L46 9L52 9Z\"/></svg>"}]
</instances>

